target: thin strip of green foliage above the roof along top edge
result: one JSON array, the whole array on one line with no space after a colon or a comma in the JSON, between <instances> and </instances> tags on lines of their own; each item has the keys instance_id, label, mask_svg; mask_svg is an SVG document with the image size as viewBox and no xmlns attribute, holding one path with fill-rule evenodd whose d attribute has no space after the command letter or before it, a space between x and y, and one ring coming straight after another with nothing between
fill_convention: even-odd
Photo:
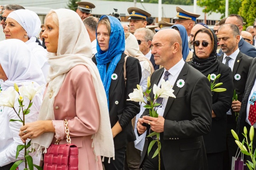
<instances>
[{"instance_id":1,"label":"thin strip of green foliage above the roof along top edge","mask_svg":"<svg viewBox=\"0 0 256 170\"><path fill-rule=\"evenodd\" d=\"M126 1L134 2L134 0L115 0L115 1ZM193 0L162 0L162 4L176 4L176 5L193 5ZM137 0L140 3L140 0ZM158 3L158 0L144 0L144 3Z\"/></svg>"}]
</instances>

